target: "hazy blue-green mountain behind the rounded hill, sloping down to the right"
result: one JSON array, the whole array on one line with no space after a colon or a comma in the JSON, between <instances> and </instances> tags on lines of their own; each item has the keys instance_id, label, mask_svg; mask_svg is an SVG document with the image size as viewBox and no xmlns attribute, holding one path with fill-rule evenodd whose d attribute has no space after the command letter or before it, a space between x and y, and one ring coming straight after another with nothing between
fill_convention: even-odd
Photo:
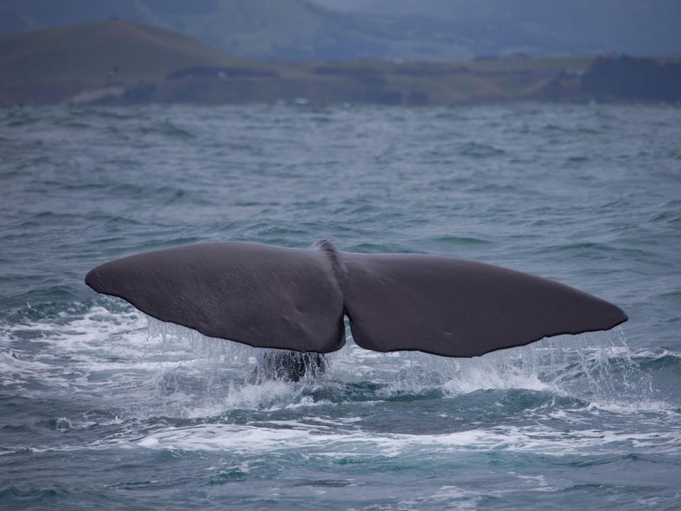
<instances>
[{"instance_id":1,"label":"hazy blue-green mountain behind the rounded hill, sloping down to the right","mask_svg":"<svg viewBox=\"0 0 681 511\"><path fill-rule=\"evenodd\" d=\"M260 60L471 56L466 40L437 23L338 13L306 0L0 0L4 33L111 18Z\"/></svg>"}]
</instances>

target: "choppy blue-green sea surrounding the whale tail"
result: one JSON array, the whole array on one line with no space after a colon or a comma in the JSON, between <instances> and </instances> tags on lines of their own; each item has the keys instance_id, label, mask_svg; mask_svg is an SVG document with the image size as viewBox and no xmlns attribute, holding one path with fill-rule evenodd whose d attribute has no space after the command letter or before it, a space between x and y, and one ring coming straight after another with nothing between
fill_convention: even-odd
<instances>
[{"instance_id":1,"label":"choppy blue-green sea surrounding the whale tail","mask_svg":"<svg viewBox=\"0 0 681 511\"><path fill-rule=\"evenodd\" d=\"M619 304L321 378L84 285L199 241L455 255ZM0 110L0 509L681 508L681 109ZM228 304L226 304L226 307Z\"/></svg>"}]
</instances>

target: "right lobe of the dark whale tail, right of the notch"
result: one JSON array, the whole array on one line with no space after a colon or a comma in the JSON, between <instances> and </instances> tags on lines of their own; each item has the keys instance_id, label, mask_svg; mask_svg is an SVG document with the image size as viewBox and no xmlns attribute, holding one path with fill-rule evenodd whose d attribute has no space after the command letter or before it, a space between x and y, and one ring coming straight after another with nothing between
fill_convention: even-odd
<instances>
[{"instance_id":1,"label":"right lobe of the dark whale tail, right of the notch","mask_svg":"<svg viewBox=\"0 0 681 511\"><path fill-rule=\"evenodd\" d=\"M353 338L375 351L470 357L627 319L573 287L475 261L355 253L343 260Z\"/></svg>"}]
</instances>

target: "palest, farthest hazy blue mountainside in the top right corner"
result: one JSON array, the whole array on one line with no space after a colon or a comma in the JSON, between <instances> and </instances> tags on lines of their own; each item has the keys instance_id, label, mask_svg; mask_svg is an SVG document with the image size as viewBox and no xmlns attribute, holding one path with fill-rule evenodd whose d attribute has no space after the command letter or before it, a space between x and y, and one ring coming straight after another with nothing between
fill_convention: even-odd
<instances>
[{"instance_id":1,"label":"palest, farthest hazy blue mountainside in the top right corner","mask_svg":"<svg viewBox=\"0 0 681 511\"><path fill-rule=\"evenodd\" d=\"M681 51L679 0L312 0L347 14L427 18L475 55Z\"/></svg>"}]
</instances>

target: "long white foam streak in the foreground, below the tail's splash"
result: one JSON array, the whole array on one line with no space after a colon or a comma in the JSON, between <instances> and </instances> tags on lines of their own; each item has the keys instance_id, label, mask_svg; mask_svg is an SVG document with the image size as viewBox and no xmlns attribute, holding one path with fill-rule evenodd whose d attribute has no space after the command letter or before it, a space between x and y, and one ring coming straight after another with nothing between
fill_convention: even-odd
<instances>
[{"instance_id":1,"label":"long white foam streak in the foreground, below the tail's splash","mask_svg":"<svg viewBox=\"0 0 681 511\"><path fill-rule=\"evenodd\" d=\"M317 456L399 456L446 451L517 451L563 456L594 452L624 454L664 451L681 454L681 433L655 430L621 432L583 429L564 431L543 426L469 429L448 434L380 434L352 429L329 432L302 422L262 424L201 424L168 428L136 441L138 446L183 451L228 451L238 454L300 451Z\"/></svg>"}]
</instances>

